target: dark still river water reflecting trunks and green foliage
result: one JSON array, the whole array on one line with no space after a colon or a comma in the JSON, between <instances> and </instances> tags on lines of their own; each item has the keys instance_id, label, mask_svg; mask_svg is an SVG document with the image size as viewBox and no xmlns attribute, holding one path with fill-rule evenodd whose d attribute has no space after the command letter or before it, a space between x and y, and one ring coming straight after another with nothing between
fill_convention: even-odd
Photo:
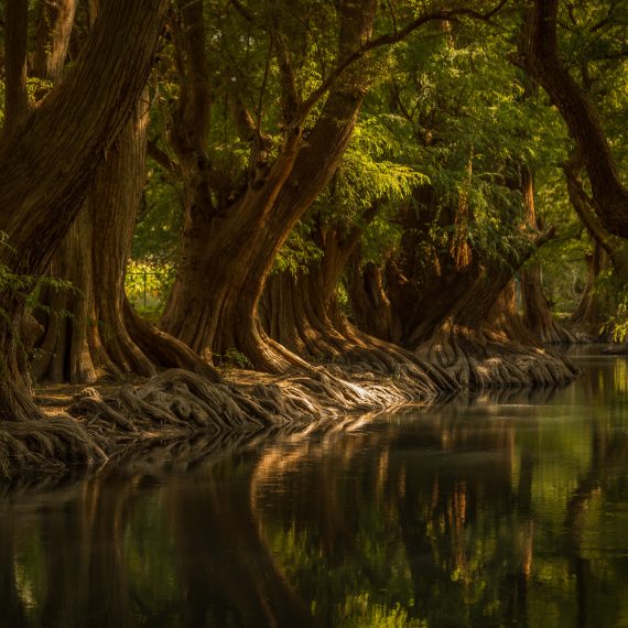
<instances>
[{"instance_id":1,"label":"dark still river water reflecting trunks and green foliage","mask_svg":"<svg viewBox=\"0 0 628 628\"><path fill-rule=\"evenodd\" d=\"M0 626L628 627L628 362L0 498Z\"/></svg>"}]
</instances>

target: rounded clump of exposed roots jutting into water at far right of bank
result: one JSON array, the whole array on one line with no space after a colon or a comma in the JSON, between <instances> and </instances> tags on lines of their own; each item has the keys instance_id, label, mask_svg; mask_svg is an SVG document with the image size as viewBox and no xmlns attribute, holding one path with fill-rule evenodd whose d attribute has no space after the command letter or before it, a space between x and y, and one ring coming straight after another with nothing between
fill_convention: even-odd
<instances>
[{"instance_id":1,"label":"rounded clump of exposed roots jutting into water at far right of bank","mask_svg":"<svg viewBox=\"0 0 628 628\"><path fill-rule=\"evenodd\" d=\"M562 386L577 373L564 356L522 345L505 334L444 325L416 355L435 361L464 387Z\"/></svg>"}]
</instances>

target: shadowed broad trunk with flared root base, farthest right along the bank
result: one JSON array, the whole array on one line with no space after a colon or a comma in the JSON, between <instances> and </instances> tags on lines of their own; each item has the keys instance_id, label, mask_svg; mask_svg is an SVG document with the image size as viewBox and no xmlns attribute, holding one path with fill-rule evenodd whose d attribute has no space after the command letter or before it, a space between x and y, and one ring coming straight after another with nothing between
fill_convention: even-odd
<instances>
[{"instance_id":1,"label":"shadowed broad trunk with flared root base, farthest right along the bank","mask_svg":"<svg viewBox=\"0 0 628 628\"><path fill-rule=\"evenodd\" d=\"M434 205L432 191L418 194L425 207ZM456 225L458 209L459 203L434 216L445 227ZM496 262L470 248L461 257L459 235L450 242L456 247L437 251L429 239L429 214L399 216L405 232L388 294L401 324L402 346L472 388L569 381L571 365L542 350L516 311L513 269L523 257Z\"/></svg>"}]
</instances>

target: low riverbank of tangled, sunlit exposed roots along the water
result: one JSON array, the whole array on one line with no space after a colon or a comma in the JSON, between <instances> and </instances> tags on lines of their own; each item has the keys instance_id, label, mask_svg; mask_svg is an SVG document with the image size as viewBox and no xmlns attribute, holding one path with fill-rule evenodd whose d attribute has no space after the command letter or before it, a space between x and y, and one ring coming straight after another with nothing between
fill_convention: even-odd
<instances>
[{"instance_id":1,"label":"low riverbank of tangled, sunlit exposed roots along the water","mask_svg":"<svg viewBox=\"0 0 628 628\"><path fill-rule=\"evenodd\" d=\"M0 423L0 477L115 464L151 443L185 448L184 443L199 435L219 442L229 433L316 429L346 416L432 403L466 388L455 373L434 364L416 359L402 366L393 372L312 366L284 376L234 369L221 383L171 369L119 386L40 388L35 400L46 421ZM476 368L489 366L496 368L495 362ZM512 372L513 362L508 366ZM566 358L544 351L538 354L534 369L544 376L532 386L565 385L577 372ZM530 387L530 378L522 372L502 385Z\"/></svg>"}]
</instances>

